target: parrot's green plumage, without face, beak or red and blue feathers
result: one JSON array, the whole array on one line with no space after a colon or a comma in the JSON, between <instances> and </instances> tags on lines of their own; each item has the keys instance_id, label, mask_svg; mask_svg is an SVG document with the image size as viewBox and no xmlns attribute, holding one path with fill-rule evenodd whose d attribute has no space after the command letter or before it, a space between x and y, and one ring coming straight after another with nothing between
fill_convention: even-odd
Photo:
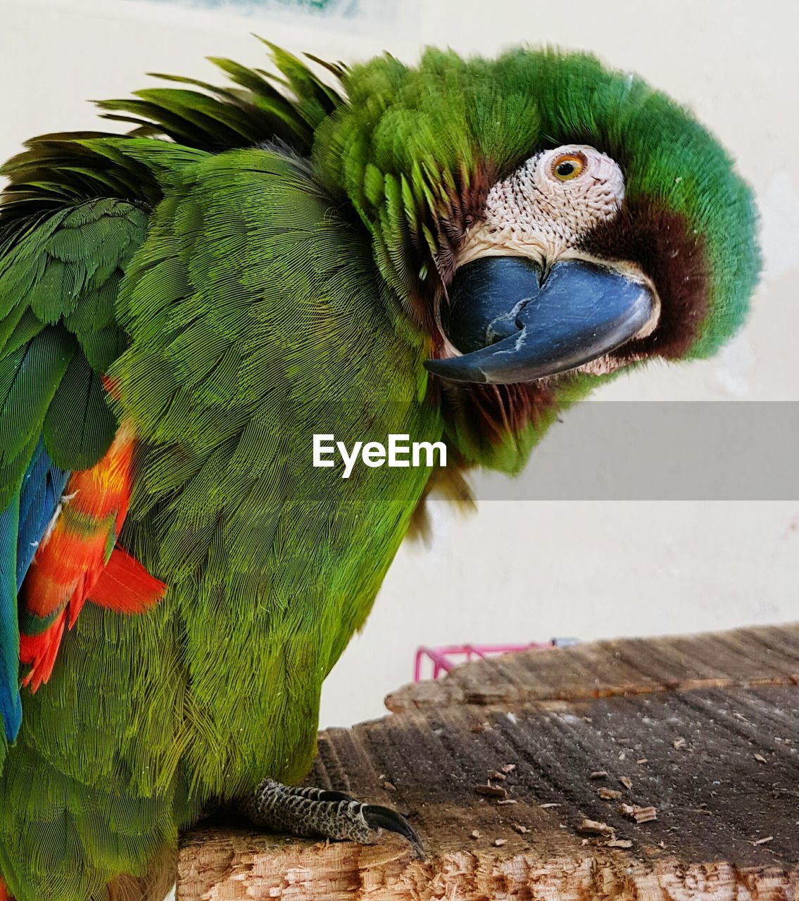
<instances>
[{"instance_id":1,"label":"parrot's green plumage, without face, beak or red and blue feathers","mask_svg":"<svg viewBox=\"0 0 799 901\"><path fill-rule=\"evenodd\" d=\"M443 437L459 459L516 471L554 418L551 406L486 441L428 381L420 298L455 198L542 145L604 147L629 196L704 234L716 300L695 354L740 323L756 274L749 194L723 151L594 59L377 59L335 68L351 104L282 51L276 62L293 100L218 60L238 87L104 105L177 143L57 136L6 168L0 403L30 403L0 446L0 492L14 495L42 431L79 468L107 447L114 414L131 419L141 446L122 543L169 585L141 616L88 605L50 683L23 693L5 766L0 747L0 874L17 901L103 898L209 802L308 769L322 680L430 475L313 469L313 432ZM286 146L248 147L273 139ZM41 359L27 394L6 384L24 353ZM565 381L559 404L596 382Z\"/></svg>"}]
</instances>

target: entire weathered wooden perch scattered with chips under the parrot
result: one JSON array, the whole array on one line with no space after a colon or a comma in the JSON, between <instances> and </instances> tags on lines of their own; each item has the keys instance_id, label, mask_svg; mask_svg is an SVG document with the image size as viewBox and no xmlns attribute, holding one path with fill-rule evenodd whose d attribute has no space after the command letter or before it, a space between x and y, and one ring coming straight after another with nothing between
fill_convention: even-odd
<instances>
[{"instance_id":1,"label":"entire weathered wooden perch scattered with chips under the parrot","mask_svg":"<svg viewBox=\"0 0 799 901\"><path fill-rule=\"evenodd\" d=\"M205 826L178 901L799 895L799 625L505 655L386 704L308 782L409 815L426 861Z\"/></svg>"}]
</instances>

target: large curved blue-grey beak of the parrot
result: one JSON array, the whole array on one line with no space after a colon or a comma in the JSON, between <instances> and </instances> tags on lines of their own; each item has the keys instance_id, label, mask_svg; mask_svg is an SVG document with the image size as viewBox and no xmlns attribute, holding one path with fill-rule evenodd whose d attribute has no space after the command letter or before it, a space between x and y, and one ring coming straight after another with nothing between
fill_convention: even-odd
<instances>
[{"instance_id":1,"label":"large curved blue-grey beak of the parrot","mask_svg":"<svg viewBox=\"0 0 799 901\"><path fill-rule=\"evenodd\" d=\"M425 367L459 382L509 384L554 376L621 347L657 306L641 279L582 259L546 275L527 257L481 257L458 269L441 326L461 356Z\"/></svg>"}]
</instances>

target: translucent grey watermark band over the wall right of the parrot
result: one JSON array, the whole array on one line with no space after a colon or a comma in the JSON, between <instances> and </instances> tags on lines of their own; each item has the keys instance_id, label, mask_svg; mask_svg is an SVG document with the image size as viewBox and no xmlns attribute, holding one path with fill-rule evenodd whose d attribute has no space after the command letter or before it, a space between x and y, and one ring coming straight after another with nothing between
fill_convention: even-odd
<instances>
[{"instance_id":1,"label":"translucent grey watermark band over the wall right of the parrot","mask_svg":"<svg viewBox=\"0 0 799 901\"><path fill-rule=\"evenodd\" d=\"M799 500L799 402L587 401L481 500Z\"/></svg>"}]
</instances>

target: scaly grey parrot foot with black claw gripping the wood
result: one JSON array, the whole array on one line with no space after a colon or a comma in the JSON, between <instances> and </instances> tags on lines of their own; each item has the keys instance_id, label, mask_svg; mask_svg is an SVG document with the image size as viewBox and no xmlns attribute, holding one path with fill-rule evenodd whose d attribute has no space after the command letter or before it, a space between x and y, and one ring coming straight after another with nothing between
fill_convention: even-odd
<instances>
[{"instance_id":1,"label":"scaly grey parrot foot with black claw gripping the wood","mask_svg":"<svg viewBox=\"0 0 799 901\"><path fill-rule=\"evenodd\" d=\"M339 791L323 788L285 786L264 779L252 796L240 805L252 824L304 837L350 839L372 844L386 829L411 842L413 851L424 859L422 841L402 814L390 807L362 804Z\"/></svg>"}]
</instances>

